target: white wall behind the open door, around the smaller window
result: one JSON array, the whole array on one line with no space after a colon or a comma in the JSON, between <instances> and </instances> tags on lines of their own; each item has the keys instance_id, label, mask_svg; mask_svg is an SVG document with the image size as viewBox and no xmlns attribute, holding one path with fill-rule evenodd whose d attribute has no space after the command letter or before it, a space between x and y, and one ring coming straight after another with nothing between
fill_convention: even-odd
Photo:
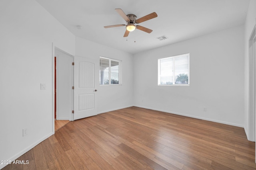
<instances>
[{"instance_id":1,"label":"white wall behind the open door, around the smaller window","mask_svg":"<svg viewBox=\"0 0 256 170\"><path fill-rule=\"evenodd\" d=\"M86 39L76 37L76 55L97 59L108 57L122 61L122 85L100 86L98 90L98 113L133 105L133 55ZM100 84L100 80L97 80Z\"/></svg>"}]
</instances>

